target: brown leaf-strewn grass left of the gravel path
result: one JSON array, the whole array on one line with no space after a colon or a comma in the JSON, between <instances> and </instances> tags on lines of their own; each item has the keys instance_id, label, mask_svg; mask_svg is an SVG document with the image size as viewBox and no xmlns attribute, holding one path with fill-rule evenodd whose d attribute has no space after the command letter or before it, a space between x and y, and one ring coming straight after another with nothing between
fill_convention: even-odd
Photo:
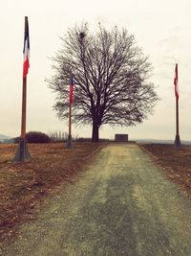
<instances>
[{"instance_id":1,"label":"brown leaf-strewn grass left of the gravel path","mask_svg":"<svg viewBox=\"0 0 191 256\"><path fill-rule=\"evenodd\" d=\"M32 144L32 160L12 163L16 145L0 145L0 240L16 232L22 221L32 220L43 197L90 161L105 144L75 143L67 150L63 144Z\"/></svg>"}]
</instances>

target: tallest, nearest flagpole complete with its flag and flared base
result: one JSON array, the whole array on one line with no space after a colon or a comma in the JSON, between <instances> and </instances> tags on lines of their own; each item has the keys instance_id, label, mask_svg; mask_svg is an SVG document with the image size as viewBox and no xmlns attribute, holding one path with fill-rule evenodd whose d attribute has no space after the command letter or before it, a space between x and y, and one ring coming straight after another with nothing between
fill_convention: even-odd
<instances>
[{"instance_id":1,"label":"tallest, nearest flagpole complete with its flag and flared base","mask_svg":"<svg viewBox=\"0 0 191 256\"><path fill-rule=\"evenodd\" d=\"M26 49L26 47L28 49ZM28 17L25 17L25 38L24 38L24 64L23 64L23 96L22 96L22 116L21 116L21 136L18 149L13 158L13 162L24 162L31 158L26 141L26 112L27 112L27 74L29 69L29 24Z\"/></svg>"}]
</instances>

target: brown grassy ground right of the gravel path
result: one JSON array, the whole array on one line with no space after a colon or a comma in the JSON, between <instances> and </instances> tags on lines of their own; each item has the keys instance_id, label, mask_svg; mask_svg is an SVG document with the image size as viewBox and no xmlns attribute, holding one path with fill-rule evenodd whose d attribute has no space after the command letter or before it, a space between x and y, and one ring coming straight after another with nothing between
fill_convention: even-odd
<instances>
[{"instance_id":1,"label":"brown grassy ground right of the gravel path","mask_svg":"<svg viewBox=\"0 0 191 256\"><path fill-rule=\"evenodd\" d=\"M146 144L139 145L149 152L163 173L191 198L191 147L183 146L176 150L173 145Z\"/></svg>"}]
</instances>

